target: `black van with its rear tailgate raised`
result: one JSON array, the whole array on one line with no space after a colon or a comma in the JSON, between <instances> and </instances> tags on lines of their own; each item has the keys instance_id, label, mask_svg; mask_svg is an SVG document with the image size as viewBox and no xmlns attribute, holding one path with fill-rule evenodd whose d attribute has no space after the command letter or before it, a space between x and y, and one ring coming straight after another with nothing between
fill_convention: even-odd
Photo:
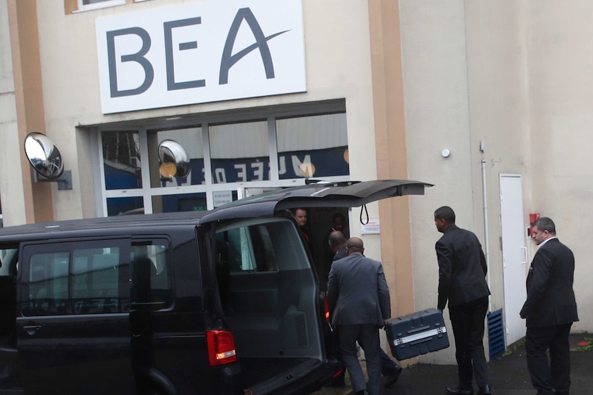
<instances>
[{"instance_id":1,"label":"black van with its rear tailgate raised","mask_svg":"<svg viewBox=\"0 0 593 395\"><path fill-rule=\"evenodd\" d=\"M341 365L287 209L426 183L311 183L211 212L0 229L0 394L308 394Z\"/></svg>"}]
</instances>

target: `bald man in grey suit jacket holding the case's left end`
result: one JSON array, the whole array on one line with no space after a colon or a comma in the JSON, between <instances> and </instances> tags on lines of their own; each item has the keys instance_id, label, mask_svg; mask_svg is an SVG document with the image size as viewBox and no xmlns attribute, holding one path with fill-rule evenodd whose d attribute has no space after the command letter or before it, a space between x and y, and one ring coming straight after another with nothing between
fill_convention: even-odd
<instances>
[{"instance_id":1,"label":"bald man in grey suit jacket holding the case's left end","mask_svg":"<svg viewBox=\"0 0 593 395\"><path fill-rule=\"evenodd\" d=\"M346 242L346 258L336 260L330 270L327 303L352 390L360 395L367 391L369 395L379 395L379 328L391 317L391 300L381 262L363 256L364 251L360 238L349 238ZM358 361L356 341L365 350L368 387Z\"/></svg>"}]
</instances>

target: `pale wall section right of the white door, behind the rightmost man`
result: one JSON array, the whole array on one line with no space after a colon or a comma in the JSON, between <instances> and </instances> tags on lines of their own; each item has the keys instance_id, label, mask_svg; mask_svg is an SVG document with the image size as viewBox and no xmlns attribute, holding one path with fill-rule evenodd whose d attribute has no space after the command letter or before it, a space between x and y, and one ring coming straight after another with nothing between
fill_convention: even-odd
<instances>
[{"instance_id":1,"label":"pale wall section right of the white door, behind the rightmost man","mask_svg":"<svg viewBox=\"0 0 593 395\"><path fill-rule=\"evenodd\" d=\"M574 289L581 321L593 330L590 285L593 196L593 3L581 0L528 4L528 81L532 199L530 211L550 216L557 236L576 258Z\"/></svg>"}]
</instances>

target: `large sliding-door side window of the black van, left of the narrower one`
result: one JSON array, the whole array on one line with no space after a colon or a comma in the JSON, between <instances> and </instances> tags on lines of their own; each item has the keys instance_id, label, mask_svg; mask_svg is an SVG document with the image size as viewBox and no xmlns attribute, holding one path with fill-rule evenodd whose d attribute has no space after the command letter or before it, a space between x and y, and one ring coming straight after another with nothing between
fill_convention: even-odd
<instances>
[{"instance_id":1,"label":"large sliding-door side window of the black van, left of the narrower one","mask_svg":"<svg viewBox=\"0 0 593 395\"><path fill-rule=\"evenodd\" d=\"M127 313L129 249L122 240L25 247L24 315Z\"/></svg>"}]
</instances>

